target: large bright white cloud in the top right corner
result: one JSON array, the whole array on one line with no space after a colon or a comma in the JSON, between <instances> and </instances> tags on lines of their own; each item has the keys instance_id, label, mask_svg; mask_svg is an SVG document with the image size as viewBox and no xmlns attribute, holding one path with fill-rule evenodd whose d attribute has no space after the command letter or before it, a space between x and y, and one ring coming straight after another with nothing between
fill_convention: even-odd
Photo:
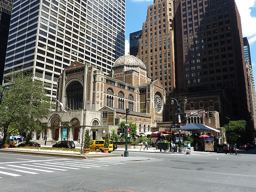
<instances>
[{"instance_id":1,"label":"large bright white cloud in the top right corner","mask_svg":"<svg viewBox=\"0 0 256 192\"><path fill-rule=\"evenodd\" d=\"M241 17L243 37L256 41L256 17L251 15L251 8L256 7L256 0L235 0Z\"/></svg>"}]
</instances>

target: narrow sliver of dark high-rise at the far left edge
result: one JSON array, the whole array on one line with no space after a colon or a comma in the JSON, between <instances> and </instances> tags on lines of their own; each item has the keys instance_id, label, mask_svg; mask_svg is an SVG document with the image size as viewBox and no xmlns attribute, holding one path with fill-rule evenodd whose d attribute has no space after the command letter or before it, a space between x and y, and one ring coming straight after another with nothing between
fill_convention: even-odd
<instances>
[{"instance_id":1,"label":"narrow sliver of dark high-rise at the far left edge","mask_svg":"<svg viewBox=\"0 0 256 192\"><path fill-rule=\"evenodd\" d=\"M4 62L12 13L12 0L0 2L0 84L3 82Z\"/></svg>"}]
</instances>

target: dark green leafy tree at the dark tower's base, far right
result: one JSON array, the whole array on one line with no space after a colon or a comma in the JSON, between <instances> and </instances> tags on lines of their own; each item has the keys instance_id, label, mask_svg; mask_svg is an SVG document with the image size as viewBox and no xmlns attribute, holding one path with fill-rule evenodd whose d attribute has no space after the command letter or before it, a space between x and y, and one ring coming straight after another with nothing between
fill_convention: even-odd
<instances>
[{"instance_id":1,"label":"dark green leafy tree at the dark tower's base, far right","mask_svg":"<svg viewBox=\"0 0 256 192\"><path fill-rule=\"evenodd\" d=\"M245 130L246 130L245 120L229 121L229 124L225 124L223 127L226 129L226 135L229 134L230 142L231 141L235 142L237 140L241 141L245 139ZM229 132L228 132L228 127L229 127Z\"/></svg>"}]
</instances>

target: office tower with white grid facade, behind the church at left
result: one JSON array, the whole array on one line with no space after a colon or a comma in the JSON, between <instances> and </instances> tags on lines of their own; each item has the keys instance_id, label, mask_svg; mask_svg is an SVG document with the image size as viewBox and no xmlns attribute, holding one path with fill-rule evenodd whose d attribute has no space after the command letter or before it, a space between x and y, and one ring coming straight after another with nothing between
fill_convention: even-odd
<instances>
[{"instance_id":1,"label":"office tower with white grid facade, behind the church at left","mask_svg":"<svg viewBox=\"0 0 256 192\"><path fill-rule=\"evenodd\" d=\"M70 63L110 73L124 55L124 32L125 0L14 0L4 77L31 71L55 101Z\"/></svg>"}]
</instances>

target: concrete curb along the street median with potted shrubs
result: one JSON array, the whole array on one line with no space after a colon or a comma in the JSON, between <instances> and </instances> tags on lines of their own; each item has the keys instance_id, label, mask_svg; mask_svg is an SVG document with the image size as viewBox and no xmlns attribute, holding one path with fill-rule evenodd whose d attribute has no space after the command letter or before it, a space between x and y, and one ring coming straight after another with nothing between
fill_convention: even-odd
<instances>
[{"instance_id":1,"label":"concrete curb along the street median with potted shrubs","mask_svg":"<svg viewBox=\"0 0 256 192\"><path fill-rule=\"evenodd\" d=\"M46 153L46 152L36 152L36 151L18 151L18 150L8 150L0 149L0 153L10 153L10 154L20 154L20 155L33 155L33 156L50 156L50 157L64 157L73 159L93 159L102 157L121 157L122 154L107 154L107 155L69 155L60 153Z\"/></svg>"}]
</instances>

